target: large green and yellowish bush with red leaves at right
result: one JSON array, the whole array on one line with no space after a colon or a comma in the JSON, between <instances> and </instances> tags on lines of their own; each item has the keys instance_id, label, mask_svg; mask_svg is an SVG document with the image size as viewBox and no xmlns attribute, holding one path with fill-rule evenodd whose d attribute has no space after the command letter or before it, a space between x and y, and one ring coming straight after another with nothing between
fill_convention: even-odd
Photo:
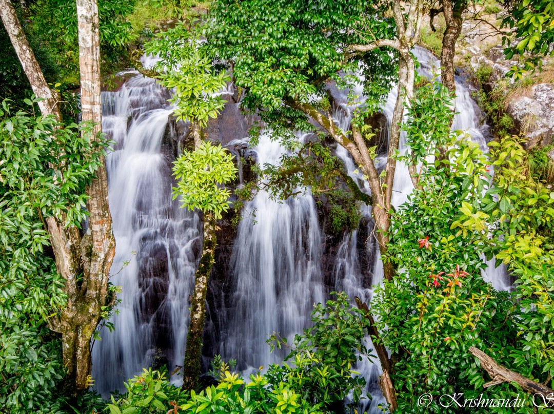
<instances>
[{"instance_id":1,"label":"large green and yellowish bush with red leaves at right","mask_svg":"<svg viewBox=\"0 0 554 414\"><path fill-rule=\"evenodd\" d=\"M372 306L393 353L399 411L414 413L424 393L515 399L521 392L509 384L483 389L488 376L469 346L538 382L551 385L554 372L554 193L530 178L516 138L491 143L486 155L463 135L449 135L448 116L440 114L445 97L433 99L440 91L431 86L418 91L403 125L411 149L404 159L417 160L421 169L419 187L392 216L387 255L399 275L377 288ZM423 122L428 113L439 121L436 130ZM437 142L450 148L445 158L437 158ZM484 255L517 275L513 292L497 292L483 280ZM533 409L529 404L520 412ZM437 401L427 407L456 410Z\"/></svg>"}]
</instances>

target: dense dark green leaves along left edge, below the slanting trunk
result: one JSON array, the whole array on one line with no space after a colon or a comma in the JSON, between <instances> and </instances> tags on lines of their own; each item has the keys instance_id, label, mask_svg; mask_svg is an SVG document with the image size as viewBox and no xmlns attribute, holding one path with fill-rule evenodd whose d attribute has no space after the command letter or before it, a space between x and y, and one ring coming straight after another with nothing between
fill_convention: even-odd
<instances>
[{"instance_id":1,"label":"dense dark green leaves along left edge, below the slanting trunk","mask_svg":"<svg viewBox=\"0 0 554 414\"><path fill-rule=\"evenodd\" d=\"M36 101L25 100L30 110ZM84 187L104 156L105 142L63 128L52 117L0 107L0 410L53 412L63 377L61 344L48 318L65 305L44 220L67 216L80 225Z\"/></svg>"}]
</instances>

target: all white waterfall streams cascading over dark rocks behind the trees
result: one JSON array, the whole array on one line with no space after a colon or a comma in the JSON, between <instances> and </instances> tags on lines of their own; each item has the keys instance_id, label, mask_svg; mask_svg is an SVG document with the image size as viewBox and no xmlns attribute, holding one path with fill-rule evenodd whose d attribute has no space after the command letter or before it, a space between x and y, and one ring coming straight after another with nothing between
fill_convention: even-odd
<instances>
[{"instance_id":1,"label":"all white waterfall streams cascading over dark rocks behind the trees","mask_svg":"<svg viewBox=\"0 0 554 414\"><path fill-rule=\"evenodd\" d=\"M420 70L430 75L433 65L438 66L437 60L423 49L415 53L422 63ZM224 141L224 146L240 155L241 185L242 173L252 176L243 157L258 165L278 164L285 149L266 134L256 147L247 148L245 131L249 121L232 102L233 90L225 94L231 102L224 116L212 125L212 137L208 138ZM334 90L333 94L335 121L347 130L353 108L347 105L345 92ZM459 113L453 128L468 131L485 149L488 130L481 126L479 108L464 85L458 84L457 94ZM175 123L168 123L168 97L167 90L141 75L127 80L119 91L102 95L102 127L116 142L115 152L107 158L117 245L112 266L116 274L111 281L122 286L119 314L111 318L115 331L102 328L102 340L93 348L93 376L96 388L105 396L109 391L122 390L122 382L140 374L142 368L167 364L172 371L183 361L189 296L194 288L202 234L198 216L179 208L178 200L172 201L171 162L183 137L176 137L171 127ZM381 123L390 124L395 100L393 89ZM386 161L387 139L387 128L382 128L379 167ZM404 136L400 150L406 151ZM362 191L370 193L346 150L339 146L336 154ZM406 201L412 189L408 170L399 163L393 204ZM281 202L260 191L240 213L238 228L229 224L229 218L219 222L222 229L218 231L217 259L208 292L204 369L214 354L237 359L237 368L244 374L279 363L284 355L270 353L265 343L268 335L278 332L292 340L295 333L309 325L312 305L324 302L331 290L343 290L351 298L358 296L371 302L371 286L383 278L371 207L362 208L358 229L331 237L325 234L316 200L309 189L304 190L302 195ZM485 270L485 277L495 287L507 288L504 273L502 267L492 266ZM381 412L377 408L384 402L377 387L379 364L366 359L356 370L366 377L366 391L373 395L373 401L367 401L363 410ZM179 383L177 375L173 380Z\"/></svg>"}]
</instances>

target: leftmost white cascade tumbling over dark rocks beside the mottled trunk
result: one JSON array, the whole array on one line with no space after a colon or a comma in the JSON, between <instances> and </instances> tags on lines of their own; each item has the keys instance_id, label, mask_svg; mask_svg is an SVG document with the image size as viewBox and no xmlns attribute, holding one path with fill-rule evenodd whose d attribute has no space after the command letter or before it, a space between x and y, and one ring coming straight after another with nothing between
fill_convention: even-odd
<instances>
[{"instance_id":1,"label":"leftmost white cascade tumbling over dark rocks beside the mottled trunk","mask_svg":"<svg viewBox=\"0 0 554 414\"><path fill-rule=\"evenodd\" d=\"M122 291L110 319L115 330L102 328L93 346L93 377L104 396L143 368L183 363L202 236L197 215L172 201L174 156L162 142L168 97L142 75L102 92L102 129L115 141L106 158L116 240L111 282Z\"/></svg>"}]
</instances>

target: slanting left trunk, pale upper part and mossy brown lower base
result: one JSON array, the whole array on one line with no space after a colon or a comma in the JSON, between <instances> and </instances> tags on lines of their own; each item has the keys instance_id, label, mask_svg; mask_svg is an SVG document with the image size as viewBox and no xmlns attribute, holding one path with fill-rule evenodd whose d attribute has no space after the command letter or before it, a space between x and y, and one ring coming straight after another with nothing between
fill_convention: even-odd
<instances>
[{"instance_id":1,"label":"slanting left trunk, pale upper part and mossy brown lower base","mask_svg":"<svg viewBox=\"0 0 554 414\"><path fill-rule=\"evenodd\" d=\"M0 15L35 96L43 99L38 102L42 115L52 115L58 122L61 122L57 94L49 89L42 70L40 70L40 66L30 48L27 37L25 37L13 5L9 0L0 0ZM98 89L99 93L100 89ZM99 98L98 96L98 102ZM99 105L96 110L100 110ZM98 121L100 121L99 117ZM102 171L99 173L99 177L102 177ZM105 170L103 177L105 180ZM98 197L98 195L96 196ZM89 207L89 211L91 210L94 211L94 208L91 209ZM84 242L88 242L90 237L83 239L79 229L76 227L65 228L64 221L64 217L61 220L57 220L52 216L46 219L56 267L65 280L64 291L68 296L66 306L61 309L59 315L53 316L48 320L48 326L55 332L62 334L63 361L64 366L68 370L68 375L65 378L65 387L66 389L79 390L84 389L89 384L88 376L90 375L91 368L90 338L100 320L100 306L97 301L89 304L86 303L83 294L83 287L85 286L86 290L86 285L88 284L86 280L87 275L90 275L91 271L90 268L85 268L81 252L89 251L89 249L83 249L83 247L86 247ZM91 229L94 230L98 226L98 220L95 220L91 216L90 222ZM109 231L111 232L111 222L108 224L110 226ZM92 250L90 249L90 251ZM108 248L102 251L100 255L105 256L106 253L108 256L110 254L113 255L113 249L110 250ZM90 265L90 263L88 264ZM107 287L109 265L105 266L105 268ZM83 283L79 286L78 278L81 275L84 276ZM104 304L105 300L102 302L102 306Z\"/></svg>"}]
</instances>

